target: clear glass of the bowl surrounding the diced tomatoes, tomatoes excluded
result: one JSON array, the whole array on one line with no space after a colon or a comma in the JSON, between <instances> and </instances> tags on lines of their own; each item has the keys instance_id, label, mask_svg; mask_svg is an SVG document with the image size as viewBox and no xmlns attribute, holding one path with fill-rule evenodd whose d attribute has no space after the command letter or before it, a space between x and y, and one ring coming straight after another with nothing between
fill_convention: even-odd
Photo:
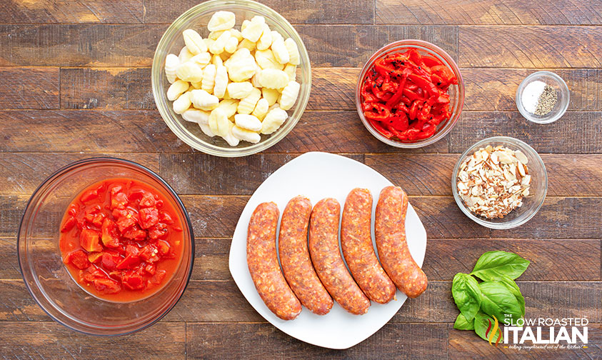
<instances>
[{"instance_id":1,"label":"clear glass of the bowl surrounding the diced tomatoes, tomatoes excluded","mask_svg":"<svg viewBox=\"0 0 602 360\"><path fill-rule=\"evenodd\" d=\"M171 279L155 294L125 303L104 301L81 289L59 250L61 220L74 197L86 186L120 177L142 181L163 194L184 231L182 259ZM19 225L17 257L29 293L52 319L86 334L124 335L159 321L184 294L194 262L194 235L184 204L159 175L131 161L94 158L65 166L34 191Z\"/></svg>"}]
</instances>

